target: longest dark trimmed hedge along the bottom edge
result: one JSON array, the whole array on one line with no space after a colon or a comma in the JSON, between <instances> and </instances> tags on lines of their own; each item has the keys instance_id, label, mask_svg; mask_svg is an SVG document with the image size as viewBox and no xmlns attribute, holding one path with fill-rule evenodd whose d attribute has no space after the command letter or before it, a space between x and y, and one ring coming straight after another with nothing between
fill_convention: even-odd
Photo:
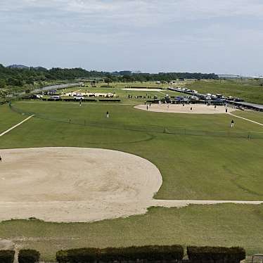
<instances>
[{"instance_id":1,"label":"longest dark trimmed hedge along the bottom edge","mask_svg":"<svg viewBox=\"0 0 263 263\"><path fill-rule=\"evenodd\" d=\"M114 262L136 261L147 259L148 261L181 260L184 257L184 248L181 245L148 245L129 248L80 248L75 250L60 250L56 253L59 263L86 263L86 262Z\"/></svg>"}]
</instances>

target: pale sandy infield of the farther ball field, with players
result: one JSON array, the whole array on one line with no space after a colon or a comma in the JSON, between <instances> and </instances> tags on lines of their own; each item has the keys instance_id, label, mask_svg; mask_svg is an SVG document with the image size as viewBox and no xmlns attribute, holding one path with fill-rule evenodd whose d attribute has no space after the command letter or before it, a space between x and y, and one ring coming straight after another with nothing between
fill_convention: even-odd
<instances>
[{"instance_id":1,"label":"pale sandy infield of the farther ball field, with players","mask_svg":"<svg viewBox=\"0 0 263 263\"><path fill-rule=\"evenodd\" d=\"M147 110L147 105L136 105L134 108L139 110ZM192 110L191 110L192 108ZM235 111L235 108L227 108L228 113ZM204 104L151 104L148 105L148 111L158 113L193 113L193 114L217 114L226 113L226 107L213 105L207 106Z\"/></svg>"}]
</instances>

